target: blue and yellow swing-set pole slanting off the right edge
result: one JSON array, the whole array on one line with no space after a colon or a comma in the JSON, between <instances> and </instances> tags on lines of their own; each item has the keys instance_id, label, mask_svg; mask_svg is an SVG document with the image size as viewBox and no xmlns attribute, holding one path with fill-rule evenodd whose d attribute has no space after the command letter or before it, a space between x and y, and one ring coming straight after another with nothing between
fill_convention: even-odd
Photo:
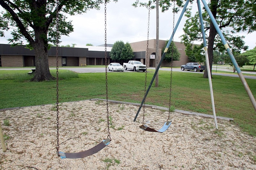
<instances>
[{"instance_id":1,"label":"blue and yellow swing-set pole slanting off the right edge","mask_svg":"<svg viewBox=\"0 0 256 170\"><path fill-rule=\"evenodd\" d=\"M219 28L219 26L218 26L216 20L215 20L215 18L213 17L210 8L208 7L208 5L207 5L207 3L205 2L205 0L202 0L202 3L204 4L204 7L205 7L206 11L207 11L208 14L209 14L209 16L210 16L210 18L211 18L211 20L212 20L212 23L213 23L213 25L214 25L216 31L217 31L218 34L220 35L221 41L222 41L222 43L224 44L224 47L226 48L226 50L227 50L227 52L228 52L228 55L229 55L229 57L230 57L232 63L234 64L234 66L235 66L235 68L236 68L237 74L238 74L239 78L241 79L242 84L244 85L245 91L247 92L247 94L248 94L248 96L249 96L249 98L250 98L250 100L251 100L251 102L252 102L252 105L253 105L253 107L254 107L254 110L256 111L256 101L255 101L255 99L254 99L254 97L253 97L253 95L252 95L252 92L251 92L251 90L250 90L250 88L249 88L249 86L248 86L248 84L247 84L247 82L246 82L246 80L245 80L245 78L244 78L244 76L243 76L243 73L241 72L241 70L240 70L240 68L239 68L239 66L238 66L238 64L237 64L237 62L236 62L236 59L235 59L235 57L234 57L232 51L230 50L230 48L229 48L229 46L228 46L227 41L225 40L225 38L224 38L224 36L223 36L223 34L222 34L222 32L221 32L221 30L220 30L220 28Z\"/></svg>"}]
</instances>

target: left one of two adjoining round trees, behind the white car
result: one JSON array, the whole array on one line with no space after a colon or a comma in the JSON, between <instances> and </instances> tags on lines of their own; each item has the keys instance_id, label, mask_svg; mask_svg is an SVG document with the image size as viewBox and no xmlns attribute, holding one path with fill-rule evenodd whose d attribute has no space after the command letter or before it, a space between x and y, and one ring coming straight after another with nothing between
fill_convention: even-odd
<instances>
[{"instance_id":1,"label":"left one of two adjoining round trees, behind the white car","mask_svg":"<svg viewBox=\"0 0 256 170\"><path fill-rule=\"evenodd\" d=\"M122 60L122 51L125 49L124 41L116 41L109 53L110 58L114 61Z\"/></svg>"}]
</instances>

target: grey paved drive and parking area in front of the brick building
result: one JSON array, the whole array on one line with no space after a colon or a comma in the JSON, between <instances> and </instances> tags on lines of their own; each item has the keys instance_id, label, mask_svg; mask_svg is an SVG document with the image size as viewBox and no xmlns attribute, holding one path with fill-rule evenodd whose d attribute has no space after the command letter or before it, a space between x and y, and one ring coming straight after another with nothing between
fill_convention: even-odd
<instances>
[{"instance_id":1,"label":"grey paved drive and parking area in front of the brick building","mask_svg":"<svg viewBox=\"0 0 256 170\"><path fill-rule=\"evenodd\" d=\"M55 68L50 68L50 69L55 69ZM81 67L81 68L59 68L60 70L63 69L63 70L71 70L71 71L75 71L77 73L95 73L95 72L105 72L105 68L85 68L85 67ZM31 70L31 68L13 68L13 69L0 69L0 70ZM171 71L170 68L160 68L159 70L166 70L166 71ZM173 71L181 71L180 68L173 68L172 69ZM225 71L230 71L228 69L224 69ZM148 71L155 71L155 68L153 67L149 67L148 68ZM108 71L108 72L112 72L112 71ZM116 71L115 71L116 72ZM132 70L124 70L124 72L131 72L131 73L134 73L134 71ZM190 73L190 74L204 74L204 72L194 72L194 71L182 71L182 72L187 72L187 73ZM232 71L230 71L232 72ZM116 72L117 73L117 72ZM253 72L243 72L243 73L253 73ZM228 76L228 77L238 77L237 74L227 74L227 73L215 73L214 72L214 68L213 68L213 72L212 72L212 75L220 75L220 76ZM244 76L244 78L250 78L250 79L256 79L256 76Z\"/></svg>"}]
</instances>

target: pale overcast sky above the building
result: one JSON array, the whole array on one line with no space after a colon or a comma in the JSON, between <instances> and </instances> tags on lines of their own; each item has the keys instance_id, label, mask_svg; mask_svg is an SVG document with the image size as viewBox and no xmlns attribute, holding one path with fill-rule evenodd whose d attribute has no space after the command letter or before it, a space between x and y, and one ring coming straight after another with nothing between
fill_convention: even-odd
<instances>
[{"instance_id":1,"label":"pale overcast sky above the building","mask_svg":"<svg viewBox=\"0 0 256 170\"><path fill-rule=\"evenodd\" d=\"M135 0L119 0L107 4L107 43L114 44L116 41L137 42L147 40L148 32L148 10L145 7L134 8L132 3ZM201 4L202 7L202 4ZM193 4L193 11L197 11L196 3ZM104 44L105 35L105 16L104 4L100 10L91 10L83 15L69 16L74 26L74 32L69 36L62 36L60 45L77 44L75 47L83 47L90 43L94 46ZM175 24L180 13L175 14ZM180 35L183 34L182 27L186 21L183 16L180 25L174 35L174 41L180 41ZM159 14L159 39L168 40L172 34L172 11L166 11ZM256 32L247 34L239 33L246 36L245 45L252 49L256 46ZM6 39L10 38L10 33L0 38L0 43L7 44ZM150 28L149 39L156 39L156 10L150 11ZM200 43L200 42L194 42Z\"/></svg>"}]
</instances>

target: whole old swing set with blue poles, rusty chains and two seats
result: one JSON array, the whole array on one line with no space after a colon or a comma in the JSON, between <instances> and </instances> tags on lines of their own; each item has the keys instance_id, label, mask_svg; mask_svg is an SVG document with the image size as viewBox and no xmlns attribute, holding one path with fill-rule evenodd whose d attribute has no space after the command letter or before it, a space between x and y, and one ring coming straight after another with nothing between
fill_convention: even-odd
<instances>
[{"instance_id":1,"label":"whole old swing set with blue poles, rusty chains and two seats","mask_svg":"<svg viewBox=\"0 0 256 170\"><path fill-rule=\"evenodd\" d=\"M245 90L246 90L250 100L252 101L253 107L256 110L255 99L254 99L254 97L252 95L252 92L250 91L249 86L247 85L247 83L246 83L246 81L244 79L244 76L243 76L243 74L242 74L238 64L236 63L234 55L232 54L232 52L231 52L227 42L225 41L225 38L224 38L223 34L221 33L220 28L218 27L218 24L217 24L216 20L214 19L214 17L212 15L208 5L206 4L205 0L201 0L201 1L203 2L204 7L205 7L206 11L208 12L208 14L209 14L209 16L210 16L214 26L215 26L215 29L219 33L220 38L221 38L221 40L222 40L222 42L223 42L223 44L224 44L224 46L225 46L225 48L226 48L226 50L228 52L228 55L230 56L234 66L235 66L235 68L237 70L239 78L241 79L241 81L242 81L242 83L244 85L244 88L245 88ZM58 4L58 0L57 0L56 3ZM148 92L149 92L149 90L150 90L150 88L151 88L151 86L152 86L152 84L154 82L154 79L156 78L156 74L157 74L157 72L158 72L158 70L159 70L159 68L161 66L161 63L164 60L164 56L165 56L165 54L166 54L170 44L173 42L173 36L174 36L174 34L175 34L179 24L180 24L181 18L182 18L183 14L184 14L187 6L188 6L188 3L189 3L189 0L186 1L186 3L184 5L184 7L183 7L183 10L181 11L180 17L179 17L175 27L174 27L174 16L173 16L173 29L172 29L171 38L169 39L169 41L167 43L167 46L166 46L166 48L164 50L164 53L163 53L163 55L161 57L161 60L159 61L159 64L158 64L158 66L157 66L157 68L155 70L154 76L153 76L153 78L152 78L152 80L151 80L147 90L146 90L146 87L147 87L147 70L145 71L144 97L143 97L143 100L142 100L142 102L140 104L140 107L139 107L139 109L137 111L137 114L135 115L135 118L133 120L134 122L136 121L136 118L139 115L140 109L141 109L141 107L143 107L142 125L140 125L139 127L140 127L140 129L143 129L145 131L160 132L160 133L162 133L162 132L166 131L170 127L170 125L172 123L172 121L170 120L170 115L171 115L170 114L170 112L171 112L171 92L172 92L172 66L171 66L171 76L170 76L171 81L170 81L169 114L168 114L168 118L167 118L166 122L164 123L164 125L163 125L163 127L161 129L155 130L155 129L150 128L147 125L145 125L145 123L144 123L145 101L146 101L146 97L148 95ZM59 92L59 77L58 77L58 75L59 75L58 74L58 45L59 45L58 44L59 43L59 40L58 40L58 12L59 11L58 11L58 9L57 9L57 12L56 12L56 30L57 30L57 41L56 41L56 46L57 46L57 48L56 48L56 64L57 64L57 66L56 66L56 69L57 69L57 71L56 71L56 74L57 74L57 83L56 83L56 87L57 87L56 88L57 89L56 90L57 91L57 101L56 101L56 103L57 103L57 106L56 106L56 108L57 108L57 146L56 146L56 149L57 149L57 155L60 156L62 159L64 159L64 158L77 159L77 158L84 158L84 157L90 156L90 155L92 155L94 153L99 152L103 148L105 148L110 143L110 141L111 141L110 131L109 131L109 113L108 113L107 29L106 29L106 25L107 25L106 24L106 9L107 8L106 8L106 4L107 4L107 2L105 1L105 73L106 73L105 76L106 76L106 105L107 105L108 136L107 136L107 138L105 140L103 140L102 142L100 142L100 144L94 146L93 148L91 148L91 149L89 149L87 151L76 152L76 153L66 153L66 152L60 152L59 151L60 146L59 146L59 93L58 93ZM149 3L149 5L150 5L150 3ZM174 5L175 5L175 3L174 3ZM208 58L208 53L207 53L206 39L205 39L205 33L204 33L204 25L203 25L202 12L201 12L201 8L200 8L200 1L199 0L197 0L197 6L198 6L199 17L200 17L201 30L202 30L202 33L203 33L204 51L205 51L206 65L207 65L209 85L210 85L210 91L211 91L211 100L212 100L212 110L213 110L214 122L215 122L216 129L218 129L217 120L216 120L216 114L215 114L215 107L214 107L214 99L213 99L213 91L212 91L212 80L211 80L211 75L210 75L209 58ZM149 12L148 12L148 37L149 37L150 6L148 7L148 9L149 9ZM146 65L148 65L148 40L149 40L149 38L147 38ZM172 46L172 54L173 54L173 46ZM146 69L147 69L147 67L146 67Z\"/></svg>"}]
</instances>

